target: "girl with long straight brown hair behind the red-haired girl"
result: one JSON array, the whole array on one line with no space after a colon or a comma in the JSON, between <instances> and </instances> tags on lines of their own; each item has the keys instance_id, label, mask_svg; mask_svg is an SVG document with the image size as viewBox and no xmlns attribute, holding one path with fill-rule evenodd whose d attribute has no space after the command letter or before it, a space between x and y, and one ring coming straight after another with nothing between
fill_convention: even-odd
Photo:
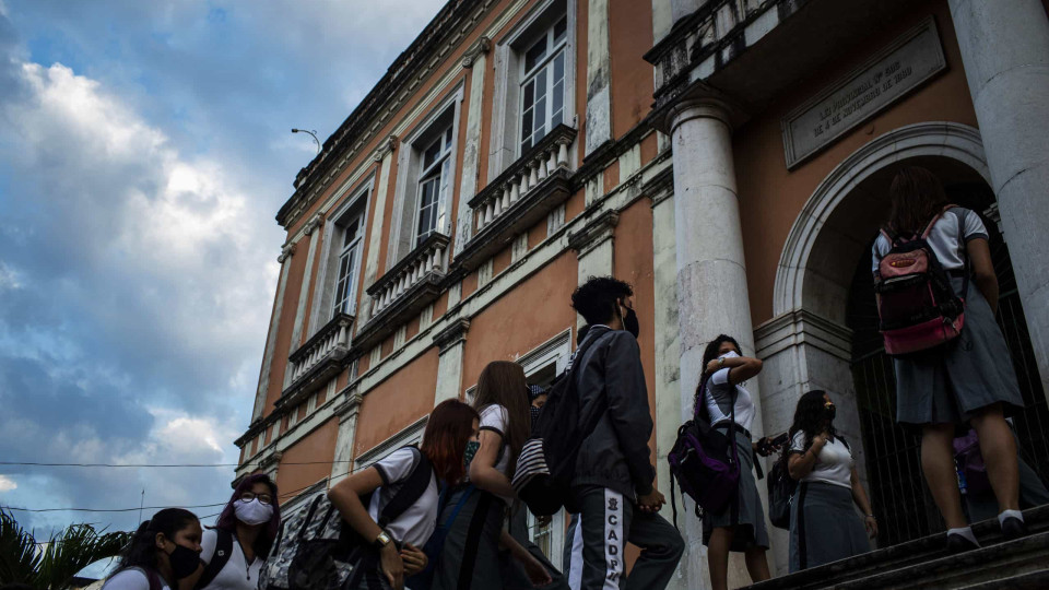
<instances>
[{"instance_id":1,"label":"girl with long straight brown hair behind the red-haired girl","mask_svg":"<svg viewBox=\"0 0 1049 590\"><path fill-rule=\"evenodd\" d=\"M516 495L510 486L531 422L524 370L517 363L488 363L478 378L474 408L480 441L469 459L470 485L448 494L440 522L455 517L434 573L434 590L499 588L499 547L524 567L534 586L551 581L546 568L504 530ZM467 456L470 457L471 449Z\"/></svg>"}]
</instances>

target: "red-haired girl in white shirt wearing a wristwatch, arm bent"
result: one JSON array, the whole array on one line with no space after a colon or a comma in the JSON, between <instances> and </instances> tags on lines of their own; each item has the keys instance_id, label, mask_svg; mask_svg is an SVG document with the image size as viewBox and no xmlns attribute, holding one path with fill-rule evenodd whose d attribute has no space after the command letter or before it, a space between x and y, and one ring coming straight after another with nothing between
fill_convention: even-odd
<instances>
[{"instance_id":1,"label":"red-haired girl in white shirt wearing a wristwatch, arm bent","mask_svg":"<svg viewBox=\"0 0 1049 590\"><path fill-rule=\"evenodd\" d=\"M464 476L463 450L476 436L478 413L458 400L447 400L429 414L422 446L398 449L339 482L328 492L328 498L342 518L362 538L378 548L378 567L366 571L362 590L370 588L404 588L404 578L422 571L426 555L420 547L426 544L437 524L438 488L453 486ZM382 529L376 522L382 508L420 464L425 456L433 469L433 477L422 497ZM372 494L368 506L361 496Z\"/></svg>"}]
</instances>

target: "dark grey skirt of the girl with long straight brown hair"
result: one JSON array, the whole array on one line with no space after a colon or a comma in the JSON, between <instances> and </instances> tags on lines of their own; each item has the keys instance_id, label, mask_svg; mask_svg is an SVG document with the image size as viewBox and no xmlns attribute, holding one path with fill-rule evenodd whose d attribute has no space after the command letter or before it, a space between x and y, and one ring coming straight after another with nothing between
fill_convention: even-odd
<instances>
[{"instance_id":1,"label":"dark grey skirt of the girl with long straight brown hair","mask_svg":"<svg viewBox=\"0 0 1049 590\"><path fill-rule=\"evenodd\" d=\"M444 522L465 492L451 495L437 522ZM487 492L474 489L462 505L445 538L434 570L433 590L485 590L502 588L499 533L506 503Z\"/></svg>"}]
</instances>

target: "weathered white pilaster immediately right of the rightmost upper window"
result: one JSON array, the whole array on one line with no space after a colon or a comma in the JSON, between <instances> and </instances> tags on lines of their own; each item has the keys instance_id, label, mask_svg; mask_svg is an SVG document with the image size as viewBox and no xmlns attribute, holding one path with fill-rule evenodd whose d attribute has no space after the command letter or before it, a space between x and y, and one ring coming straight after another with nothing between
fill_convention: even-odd
<instances>
[{"instance_id":1,"label":"weathered white pilaster immediately right of the rightmost upper window","mask_svg":"<svg viewBox=\"0 0 1049 590\"><path fill-rule=\"evenodd\" d=\"M587 151L612 140L612 58L609 0L589 0L587 11Z\"/></svg>"}]
</instances>

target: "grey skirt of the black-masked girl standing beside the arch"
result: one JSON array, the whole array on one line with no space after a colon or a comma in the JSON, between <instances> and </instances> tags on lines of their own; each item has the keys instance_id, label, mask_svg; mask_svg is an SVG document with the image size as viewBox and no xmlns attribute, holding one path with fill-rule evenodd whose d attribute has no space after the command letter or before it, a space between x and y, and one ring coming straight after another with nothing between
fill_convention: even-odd
<instances>
[{"instance_id":1,"label":"grey skirt of the black-masked girl standing beside the arch","mask_svg":"<svg viewBox=\"0 0 1049 590\"><path fill-rule=\"evenodd\" d=\"M790 571L871 551L867 529L852 507L852 491L802 482L790 505Z\"/></svg>"}]
</instances>

